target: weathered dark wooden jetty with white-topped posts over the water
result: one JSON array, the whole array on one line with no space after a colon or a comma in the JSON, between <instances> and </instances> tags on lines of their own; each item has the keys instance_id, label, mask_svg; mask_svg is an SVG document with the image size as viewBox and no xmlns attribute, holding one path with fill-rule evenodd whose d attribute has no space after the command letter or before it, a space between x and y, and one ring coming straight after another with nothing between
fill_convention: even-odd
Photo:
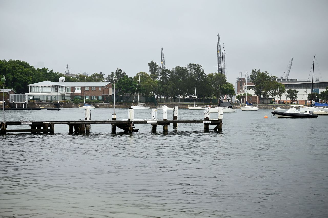
<instances>
[{"instance_id":1,"label":"weathered dark wooden jetty with white-topped posts over the water","mask_svg":"<svg viewBox=\"0 0 328 218\"><path fill-rule=\"evenodd\" d=\"M218 112L218 118L210 119L210 110L205 108L204 119L177 119L178 108L174 107L173 119L167 118L167 109L163 109L163 119L157 119L157 109L152 109L152 119L134 119L134 112L129 108L129 118L123 120L91 120L91 112L89 108L85 111L85 120L78 121L7 121L1 124L0 134L7 133L24 133L30 132L31 134L54 134L55 125L68 125L68 132L70 134L89 134L91 124L111 124L112 133L116 132L116 127L121 128L127 133L137 132L138 129L134 128L134 124L150 124L152 131L157 130L157 126L163 126L163 131L168 132L168 126L172 123L174 128L177 128L178 123L203 123L204 130L208 131L210 125L214 125L216 132L222 132L222 108ZM31 129L7 129L11 125L29 125Z\"/></svg>"}]
</instances>

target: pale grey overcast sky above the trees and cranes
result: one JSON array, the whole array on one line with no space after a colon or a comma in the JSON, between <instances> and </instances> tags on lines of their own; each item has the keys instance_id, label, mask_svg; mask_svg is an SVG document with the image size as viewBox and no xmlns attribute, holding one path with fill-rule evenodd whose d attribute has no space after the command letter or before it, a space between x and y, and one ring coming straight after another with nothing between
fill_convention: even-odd
<instances>
[{"instance_id":1,"label":"pale grey overcast sky above the trees and cranes","mask_svg":"<svg viewBox=\"0 0 328 218\"><path fill-rule=\"evenodd\" d=\"M200 64L217 70L216 44L226 50L235 84L252 69L328 80L328 1L17 1L0 0L0 59L19 59L64 73L121 68L149 73L147 63ZM318 64L317 64L318 63ZM285 76L285 75L284 75Z\"/></svg>"}]
</instances>

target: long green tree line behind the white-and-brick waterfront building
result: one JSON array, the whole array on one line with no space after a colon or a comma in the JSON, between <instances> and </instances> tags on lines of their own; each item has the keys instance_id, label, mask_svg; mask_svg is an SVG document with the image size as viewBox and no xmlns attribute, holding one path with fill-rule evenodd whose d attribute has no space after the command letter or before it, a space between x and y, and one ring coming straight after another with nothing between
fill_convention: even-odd
<instances>
[{"instance_id":1,"label":"long green tree line behind the white-and-brick waterfront building","mask_svg":"<svg viewBox=\"0 0 328 218\"><path fill-rule=\"evenodd\" d=\"M13 88L17 94L29 92L28 84L52 81L57 82L60 77L65 77L65 82L112 82L113 76L115 89L119 95L127 99L131 97L138 85L140 73L139 92L145 97L164 97L175 101L178 97L192 98L195 95L195 82L197 99L215 98L226 95L229 100L235 95L234 85L227 82L224 74L205 74L203 67L199 64L188 64L186 67L176 66L172 69L162 69L156 62L148 63L149 74L138 72L129 77L122 69L118 68L108 74L106 78L102 73L93 73L91 76L78 74L76 78L68 77L59 72L53 72L48 68L34 68L30 64L20 60L0 60L0 75L6 77L5 87ZM221 84L221 85L220 85Z\"/></svg>"}]
</instances>

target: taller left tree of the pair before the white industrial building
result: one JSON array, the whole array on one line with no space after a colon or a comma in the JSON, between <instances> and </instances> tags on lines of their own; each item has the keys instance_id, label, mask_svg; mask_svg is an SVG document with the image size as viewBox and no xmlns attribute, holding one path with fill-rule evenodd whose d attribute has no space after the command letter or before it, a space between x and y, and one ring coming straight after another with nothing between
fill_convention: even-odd
<instances>
[{"instance_id":1,"label":"taller left tree of the pair before the white industrial building","mask_svg":"<svg viewBox=\"0 0 328 218\"><path fill-rule=\"evenodd\" d=\"M270 82L272 78L269 76L267 71L261 72L259 69L253 69L251 74L251 82L254 83L255 94L258 96L263 96L264 98L268 98L268 91L270 89Z\"/></svg>"}]
</instances>

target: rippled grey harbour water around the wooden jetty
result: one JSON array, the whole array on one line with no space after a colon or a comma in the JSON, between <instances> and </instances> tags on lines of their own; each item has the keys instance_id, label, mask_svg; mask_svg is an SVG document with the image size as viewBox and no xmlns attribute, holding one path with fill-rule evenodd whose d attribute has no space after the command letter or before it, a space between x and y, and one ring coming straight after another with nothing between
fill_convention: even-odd
<instances>
[{"instance_id":1,"label":"rippled grey harbour water around the wooden jetty","mask_svg":"<svg viewBox=\"0 0 328 218\"><path fill-rule=\"evenodd\" d=\"M113 109L91 112L107 120ZM128 109L115 112L128 117ZM135 110L134 118L150 113ZM203 118L203 111L178 113ZM92 124L89 135L55 125L54 135L1 136L0 217L327 217L328 116L270 116L224 114L222 134L203 124L169 126L167 134L150 124L133 134ZM78 120L84 111L5 113L20 119Z\"/></svg>"}]
</instances>

